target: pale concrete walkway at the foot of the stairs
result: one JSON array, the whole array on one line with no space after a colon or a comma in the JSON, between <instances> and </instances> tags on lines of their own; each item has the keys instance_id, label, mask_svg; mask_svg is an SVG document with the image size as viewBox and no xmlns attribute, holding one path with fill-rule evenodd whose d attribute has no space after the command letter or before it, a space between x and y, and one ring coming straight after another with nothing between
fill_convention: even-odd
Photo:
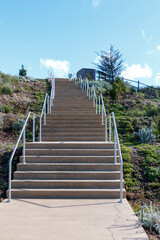
<instances>
[{"instance_id":1,"label":"pale concrete walkway at the foot of the stairs","mask_svg":"<svg viewBox=\"0 0 160 240\"><path fill-rule=\"evenodd\" d=\"M14 199L0 204L2 240L146 240L127 200Z\"/></svg>"}]
</instances>

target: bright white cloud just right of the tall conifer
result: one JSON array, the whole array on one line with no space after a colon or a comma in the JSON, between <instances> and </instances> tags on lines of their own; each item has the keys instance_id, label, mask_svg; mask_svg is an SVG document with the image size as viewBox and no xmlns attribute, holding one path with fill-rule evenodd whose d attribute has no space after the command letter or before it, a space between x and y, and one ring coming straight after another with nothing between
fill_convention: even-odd
<instances>
[{"instance_id":1,"label":"bright white cloud just right of the tall conifer","mask_svg":"<svg viewBox=\"0 0 160 240\"><path fill-rule=\"evenodd\" d=\"M128 79L151 78L152 69L148 66L148 64L144 64L144 67L140 64L133 64L131 66L127 66L126 70L122 73L122 76Z\"/></svg>"}]
</instances>

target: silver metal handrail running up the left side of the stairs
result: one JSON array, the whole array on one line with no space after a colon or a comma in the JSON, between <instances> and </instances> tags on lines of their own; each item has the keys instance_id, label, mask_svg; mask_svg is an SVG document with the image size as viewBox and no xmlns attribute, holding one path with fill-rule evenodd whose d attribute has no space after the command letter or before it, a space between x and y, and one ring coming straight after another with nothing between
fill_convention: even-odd
<instances>
[{"instance_id":1,"label":"silver metal handrail running up the left side of the stairs","mask_svg":"<svg viewBox=\"0 0 160 240\"><path fill-rule=\"evenodd\" d=\"M33 115L33 130L32 130L32 142L35 142L35 117L38 117L40 119L39 121L39 142L41 142L42 140L42 118L44 117L44 125L46 125L46 114L47 113L51 113L51 107L53 106L53 100L54 100L54 96L55 96L55 79L54 76L50 77L50 81L51 81L51 92L50 92L50 96L48 95L48 93L46 93L45 95L45 99L44 99L44 103L43 103L43 107L42 107L42 111L41 111L41 115L37 115L33 112L29 112L27 115L27 118L24 122L24 125L22 127L22 130L19 134L18 140L16 142L16 145L12 151L11 157L9 159L9 179L8 179L8 202L11 201L11 178L12 178L12 160L14 157L14 154L16 152L16 149L19 145L19 142L23 136L23 159L22 159L22 163L25 164L25 152L26 152L26 126L28 123L28 120L30 118L31 115Z\"/></svg>"}]
</instances>

